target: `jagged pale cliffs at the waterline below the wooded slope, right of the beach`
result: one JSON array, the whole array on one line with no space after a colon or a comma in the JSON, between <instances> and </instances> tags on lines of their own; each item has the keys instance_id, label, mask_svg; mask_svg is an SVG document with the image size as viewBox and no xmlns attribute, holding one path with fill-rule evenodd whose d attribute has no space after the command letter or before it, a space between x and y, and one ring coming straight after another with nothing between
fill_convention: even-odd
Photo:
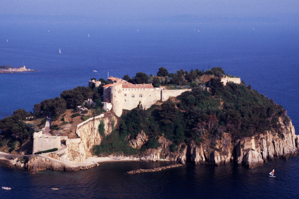
<instances>
[{"instance_id":1,"label":"jagged pale cliffs at the waterline below the wooded slope, right of the beach","mask_svg":"<svg viewBox=\"0 0 299 199\"><path fill-rule=\"evenodd\" d=\"M281 122L281 125L283 123ZM289 156L296 156L299 151L299 136L295 135L294 126L290 122L283 125L281 134L267 131L252 137L232 140L231 136L223 133L222 139L202 142L196 145L194 141L187 147L179 147L176 152L169 151L170 141L160 137L162 144L157 150L149 149L141 156L144 161L157 161L165 158L170 161L194 164L228 164L235 161L238 165L245 165L249 168L258 167L274 158L287 159Z\"/></svg>"}]
</instances>

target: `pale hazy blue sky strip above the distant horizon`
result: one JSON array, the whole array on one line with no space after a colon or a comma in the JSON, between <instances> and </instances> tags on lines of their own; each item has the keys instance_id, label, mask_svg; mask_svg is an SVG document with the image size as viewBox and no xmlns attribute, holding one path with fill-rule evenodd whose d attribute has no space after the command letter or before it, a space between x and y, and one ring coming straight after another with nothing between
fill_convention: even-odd
<instances>
[{"instance_id":1,"label":"pale hazy blue sky strip above the distant horizon","mask_svg":"<svg viewBox=\"0 0 299 199\"><path fill-rule=\"evenodd\" d=\"M280 17L299 14L299 1L237 0L19 0L2 1L1 15L75 15L96 18L152 18L176 15L209 17Z\"/></svg>"}]
</instances>

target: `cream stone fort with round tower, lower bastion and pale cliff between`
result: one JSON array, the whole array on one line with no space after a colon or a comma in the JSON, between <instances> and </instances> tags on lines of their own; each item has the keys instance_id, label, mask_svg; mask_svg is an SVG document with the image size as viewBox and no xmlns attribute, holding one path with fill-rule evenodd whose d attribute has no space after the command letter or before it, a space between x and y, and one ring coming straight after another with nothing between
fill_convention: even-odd
<instances>
[{"instance_id":1,"label":"cream stone fort with round tower, lower bastion and pale cliff between","mask_svg":"<svg viewBox=\"0 0 299 199\"><path fill-rule=\"evenodd\" d=\"M158 100L166 101L170 97L176 97L185 91L191 89L167 90L164 87L154 88L152 84L132 84L116 77L108 78L110 84L103 86L104 109L111 110L116 116L121 116L123 109L132 110L138 105L149 108ZM227 82L241 83L239 77L223 77L224 85ZM89 81L90 87L98 87L100 81ZM91 99L87 100L91 103ZM102 137L98 132L100 121L104 122L105 135L112 132L115 116L99 116L90 118L77 125L76 134L78 138L70 139L67 136L46 135L42 131L33 134L32 153L58 148L56 152L48 153L48 156L59 161L83 162L86 156L91 156L92 147L100 144Z\"/></svg>"}]
</instances>

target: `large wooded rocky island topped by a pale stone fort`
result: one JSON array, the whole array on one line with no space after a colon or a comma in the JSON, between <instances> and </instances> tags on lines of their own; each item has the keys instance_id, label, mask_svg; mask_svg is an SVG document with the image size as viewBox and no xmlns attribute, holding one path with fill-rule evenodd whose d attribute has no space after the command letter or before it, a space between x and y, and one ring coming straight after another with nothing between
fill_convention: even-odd
<instances>
[{"instance_id":1,"label":"large wooded rocky island topped by a pale stone fort","mask_svg":"<svg viewBox=\"0 0 299 199\"><path fill-rule=\"evenodd\" d=\"M0 162L32 173L118 160L254 168L299 150L286 110L220 67L91 78L33 113L14 111L0 129Z\"/></svg>"}]
</instances>

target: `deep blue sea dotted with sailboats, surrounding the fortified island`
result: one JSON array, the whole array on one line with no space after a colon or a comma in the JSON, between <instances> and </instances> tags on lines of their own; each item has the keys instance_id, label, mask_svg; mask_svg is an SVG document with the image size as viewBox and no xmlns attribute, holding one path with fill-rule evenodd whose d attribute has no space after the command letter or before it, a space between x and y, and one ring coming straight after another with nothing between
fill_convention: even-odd
<instances>
[{"instance_id":1,"label":"deep blue sea dotted with sailboats, surrounding the fortified island","mask_svg":"<svg viewBox=\"0 0 299 199\"><path fill-rule=\"evenodd\" d=\"M291 22L0 21L0 65L38 71L0 74L0 119L90 78L222 67L282 105L299 134L298 20ZM89 35L89 37L88 37ZM61 53L59 53L59 49ZM97 72L94 72L97 71ZM106 162L77 172L29 174L0 166L0 198L298 198L299 156L248 169L168 162ZM275 178L269 173L275 169ZM51 188L59 188L52 190Z\"/></svg>"}]
</instances>

